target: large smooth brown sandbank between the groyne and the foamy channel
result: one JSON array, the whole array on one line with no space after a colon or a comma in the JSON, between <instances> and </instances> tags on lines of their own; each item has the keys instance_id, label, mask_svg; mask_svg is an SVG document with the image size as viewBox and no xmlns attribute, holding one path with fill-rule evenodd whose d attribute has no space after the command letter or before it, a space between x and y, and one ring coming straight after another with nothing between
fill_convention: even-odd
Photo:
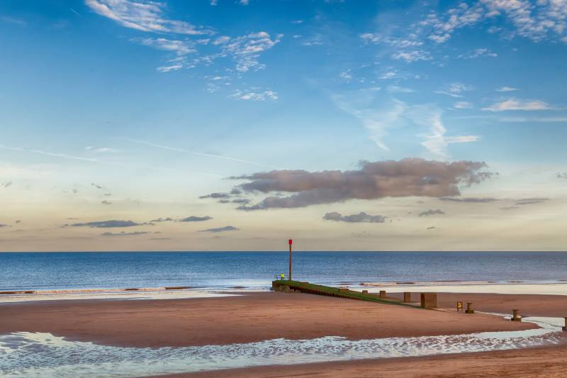
<instances>
[{"instance_id":1,"label":"large smooth brown sandbank between the groyne and the foamy channel","mask_svg":"<svg viewBox=\"0 0 567 378\"><path fill-rule=\"evenodd\" d=\"M271 292L221 298L50 301L0 306L0 334L49 332L101 345L152 348L328 335L361 340L529 328L535 326L483 314Z\"/></svg>"}]
</instances>

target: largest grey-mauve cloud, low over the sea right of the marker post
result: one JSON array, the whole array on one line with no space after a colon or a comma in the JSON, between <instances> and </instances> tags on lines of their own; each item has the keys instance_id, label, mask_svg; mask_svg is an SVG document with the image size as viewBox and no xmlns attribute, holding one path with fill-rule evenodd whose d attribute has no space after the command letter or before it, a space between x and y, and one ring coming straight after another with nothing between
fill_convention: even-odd
<instances>
[{"instance_id":1,"label":"largest grey-mauve cloud, low over the sea right of the marker post","mask_svg":"<svg viewBox=\"0 0 567 378\"><path fill-rule=\"evenodd\" d=\"M238 208L251 211L331 204L349 199L381 199L388 196L459 196L460 186L470 186L492 176L491 172L481 170L485 167L487 165L484 162L440 162L408 158L399 161L361 162L360 169L351 171L273 170L231 179L248 180L249 182L237 186L237 189L247 194L293 193L290 196L267 196L258 204Z\"/></svg>"}]
</instances>

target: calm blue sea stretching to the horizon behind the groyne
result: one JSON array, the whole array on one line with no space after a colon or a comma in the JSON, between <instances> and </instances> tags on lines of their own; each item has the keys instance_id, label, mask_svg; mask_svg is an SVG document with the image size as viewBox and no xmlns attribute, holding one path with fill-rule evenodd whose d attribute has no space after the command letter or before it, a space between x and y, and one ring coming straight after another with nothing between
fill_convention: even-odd
<instances>
[{"instance_id":1,"label":"calm blue sea stretching to the horizon behind the groyne","mask_svg":"<svg viewBox=\"0 0 567 378\"><path fill-rule=\"evenodd\" d=\"M0 253L0 290L269 287L286 252ZM294 252L293 275L320 284L557 282L567 252Z\"/></svg>"}]
</instances>

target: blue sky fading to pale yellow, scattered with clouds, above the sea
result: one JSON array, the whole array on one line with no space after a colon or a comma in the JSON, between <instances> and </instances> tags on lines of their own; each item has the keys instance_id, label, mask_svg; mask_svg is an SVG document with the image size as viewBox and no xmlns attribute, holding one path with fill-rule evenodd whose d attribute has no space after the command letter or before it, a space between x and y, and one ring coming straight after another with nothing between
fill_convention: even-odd
<instances>
[{"instance_id":1,"label":"blue sky fading to pale yellow, scattered with clouds, above the sea","mask_svg":"<svg viewBox=\"0 0 567 378\"><path fill-rule=\"evenodd\" d=\"M5 0L0 46L0 251L567 249L565 0Z\"/></svg>"}]
</instances>

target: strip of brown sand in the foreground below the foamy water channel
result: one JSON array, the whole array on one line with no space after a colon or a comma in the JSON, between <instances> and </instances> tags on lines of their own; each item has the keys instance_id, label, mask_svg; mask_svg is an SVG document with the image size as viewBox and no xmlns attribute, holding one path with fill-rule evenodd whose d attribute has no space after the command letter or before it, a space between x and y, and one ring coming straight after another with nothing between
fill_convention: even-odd
<instances>
[{"instance_id":1,"label":"strip of brown sand in the foreground below the foamy water channel","mask_svg":"<svg viewBox=\"0 0 567 378\"><path fill-rule=\"evenodd\" d=\"M356 360L305 365L251 367L162 378L405 378L405 377L515 377L563 378L567 375L567 347L530 348L388 360Z\"/></svg>"}]
</instances>

